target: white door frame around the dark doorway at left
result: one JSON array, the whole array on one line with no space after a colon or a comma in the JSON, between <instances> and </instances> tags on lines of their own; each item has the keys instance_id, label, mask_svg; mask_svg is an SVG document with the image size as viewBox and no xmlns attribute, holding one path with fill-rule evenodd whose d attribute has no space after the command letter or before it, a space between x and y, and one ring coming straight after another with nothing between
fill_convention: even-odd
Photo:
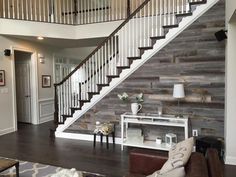
<instances>
[{"instance_id":1,"label":"white door frame around the dark doorway at left","mask_svg":"<svg viewBox=\"0 0 236 177\"><path fill-rule=\"evenodd\" d=\"M30 87L31 87L31 123L39 124L38 116L38 63L37 52L28 49L11 46L11 67L12 67L12 94L13 94L13 122L14 129L17 130L17 100L16 100L16 78L15 78L15 51L31 53L30 59Z\"/></svg>"}]
</instances>

